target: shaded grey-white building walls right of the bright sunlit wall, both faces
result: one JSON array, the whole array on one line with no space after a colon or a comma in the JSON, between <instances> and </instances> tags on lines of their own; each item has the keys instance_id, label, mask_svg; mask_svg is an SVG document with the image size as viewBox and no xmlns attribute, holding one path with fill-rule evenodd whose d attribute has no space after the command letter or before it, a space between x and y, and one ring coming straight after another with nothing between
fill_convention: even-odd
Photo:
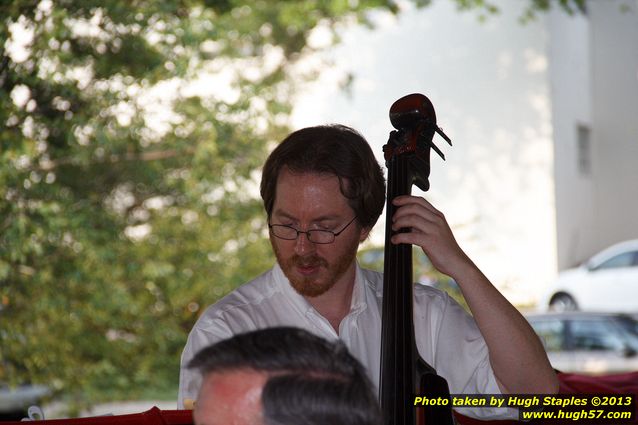
<instances>
[{"instance_id":1,"label":"shaded grey-white building walls right of the bright sunlit wall, both faces","mask_svg":"<svg viewBox=\"0 0 638 425\"><path fill-rule=\"evenodd\" d=\"M595 0L586 15L548 19L559 269L638 237L636 7ZM579 126L589 151L579 151Z\"/></svg>"}]
</instances>

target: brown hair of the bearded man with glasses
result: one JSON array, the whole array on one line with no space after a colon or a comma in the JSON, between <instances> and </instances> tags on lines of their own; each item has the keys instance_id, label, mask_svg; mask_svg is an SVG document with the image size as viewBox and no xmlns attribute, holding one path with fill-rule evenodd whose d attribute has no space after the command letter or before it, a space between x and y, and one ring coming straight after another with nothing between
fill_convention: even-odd
<instances>
[{"instance_id":1,"label":"brown hair of the bearded man with glasses","mask_svg":"<svg viewBox=\"0 0 638 425\"><path fill-rule=\"evenodd\" d=\"M261 197L270 218L283 167L293 172L333 174L341 194L363 228L371 229L385 203L383 171L368 142L343 125L322 125L297 130L272 151L261 176Z\"/></svg>"}]
</instances>

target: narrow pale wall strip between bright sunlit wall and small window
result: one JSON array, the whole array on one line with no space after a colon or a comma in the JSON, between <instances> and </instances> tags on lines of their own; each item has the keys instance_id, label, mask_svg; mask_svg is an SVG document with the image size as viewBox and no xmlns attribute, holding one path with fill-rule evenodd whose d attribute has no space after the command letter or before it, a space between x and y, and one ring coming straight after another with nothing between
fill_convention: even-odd
<instances>
[{"instance_id":1,"label":"narrow pale wall strip between bright sunlit wall and small window","mask_svg":"<svg viewBox=\"0 0 638 425\"><path fill-rule=\"evenodd\" d=\"M577 128L591 126L590 26L586 17L551 13L549 78L552 98L558 268L577 262L591 246L594 184L578 169Z\"/></svg>"}]
</instances>

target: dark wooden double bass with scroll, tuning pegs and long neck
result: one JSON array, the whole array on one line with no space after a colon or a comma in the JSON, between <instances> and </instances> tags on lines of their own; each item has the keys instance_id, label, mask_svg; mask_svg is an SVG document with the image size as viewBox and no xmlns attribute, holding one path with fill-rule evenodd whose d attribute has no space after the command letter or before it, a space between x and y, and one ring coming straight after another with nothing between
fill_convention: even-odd
<instances>
[{"instance_id":1,"label":"dark wooden double bass with scroll, tuning pegs and long neck","mask_svg":"<svg viewBox=\"0 0 638 425\"><path fill-rule=\"evenodd\" d=\"M392 200L409 195L412 185L429 189L430 149L435 133L450 145L436 124L434 106L422 94L410 94L390 108L396 129L383 147L388 168L381 325L380 399L385 425L453 424L447 381L417 351L413 323L412 245L394 245L390 238L395 207ZM409 229L401 229L409 231ZM447 399L447 406L414 407L414 396Z\"/></svg>"}]
</instances>

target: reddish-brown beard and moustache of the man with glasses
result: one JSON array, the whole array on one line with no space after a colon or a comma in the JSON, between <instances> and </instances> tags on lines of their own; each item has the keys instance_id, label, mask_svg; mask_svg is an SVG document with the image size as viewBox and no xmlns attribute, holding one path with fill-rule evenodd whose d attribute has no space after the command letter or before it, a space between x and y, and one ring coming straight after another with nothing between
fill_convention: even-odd
<instances>
[{"instance_id":1,"label":"reddish-brown beard and moustache of the man with glasses","mask_svg":"<svg viewBox=\"0 0 638 425\"><path fill-rule=\"evenodd\" d=\"M355 239L353 244L345 247L343 255L338 256L337 260L331 264L317 254L303 257L293 254L291 257L285 258L272 238L271 244L277 257L277 262L281 266L284 275L290 281L290 285L300 295L311 298L325 294L337 283L355 261L359 246L358 241ZM312 267L316 271L310 275L303 275L299 273L299 267Z\"/></svg>"}]
</instances>

